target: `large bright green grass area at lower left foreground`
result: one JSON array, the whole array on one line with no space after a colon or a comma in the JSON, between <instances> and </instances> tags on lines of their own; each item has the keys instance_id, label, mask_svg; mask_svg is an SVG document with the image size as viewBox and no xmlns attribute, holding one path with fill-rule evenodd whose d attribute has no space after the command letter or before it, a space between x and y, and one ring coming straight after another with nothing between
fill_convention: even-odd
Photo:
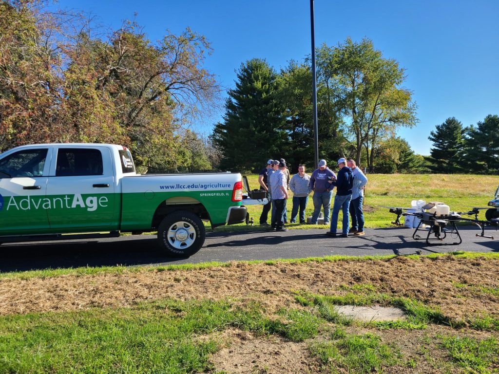
<instances>
[{"instance_id":1,"label":"large bright green grass area at lower left foreground","mask_svg":"<svg viewBox=\"0 0 499 374\"><path fill-rule=\"evenodd\" d=\"M212 369L215 338L229 326L299 342L319 332L308 312L259 305L163 300L133 308L15 315L0 318L0 373L193 373Z\"/></svg>"}]
</instances>

